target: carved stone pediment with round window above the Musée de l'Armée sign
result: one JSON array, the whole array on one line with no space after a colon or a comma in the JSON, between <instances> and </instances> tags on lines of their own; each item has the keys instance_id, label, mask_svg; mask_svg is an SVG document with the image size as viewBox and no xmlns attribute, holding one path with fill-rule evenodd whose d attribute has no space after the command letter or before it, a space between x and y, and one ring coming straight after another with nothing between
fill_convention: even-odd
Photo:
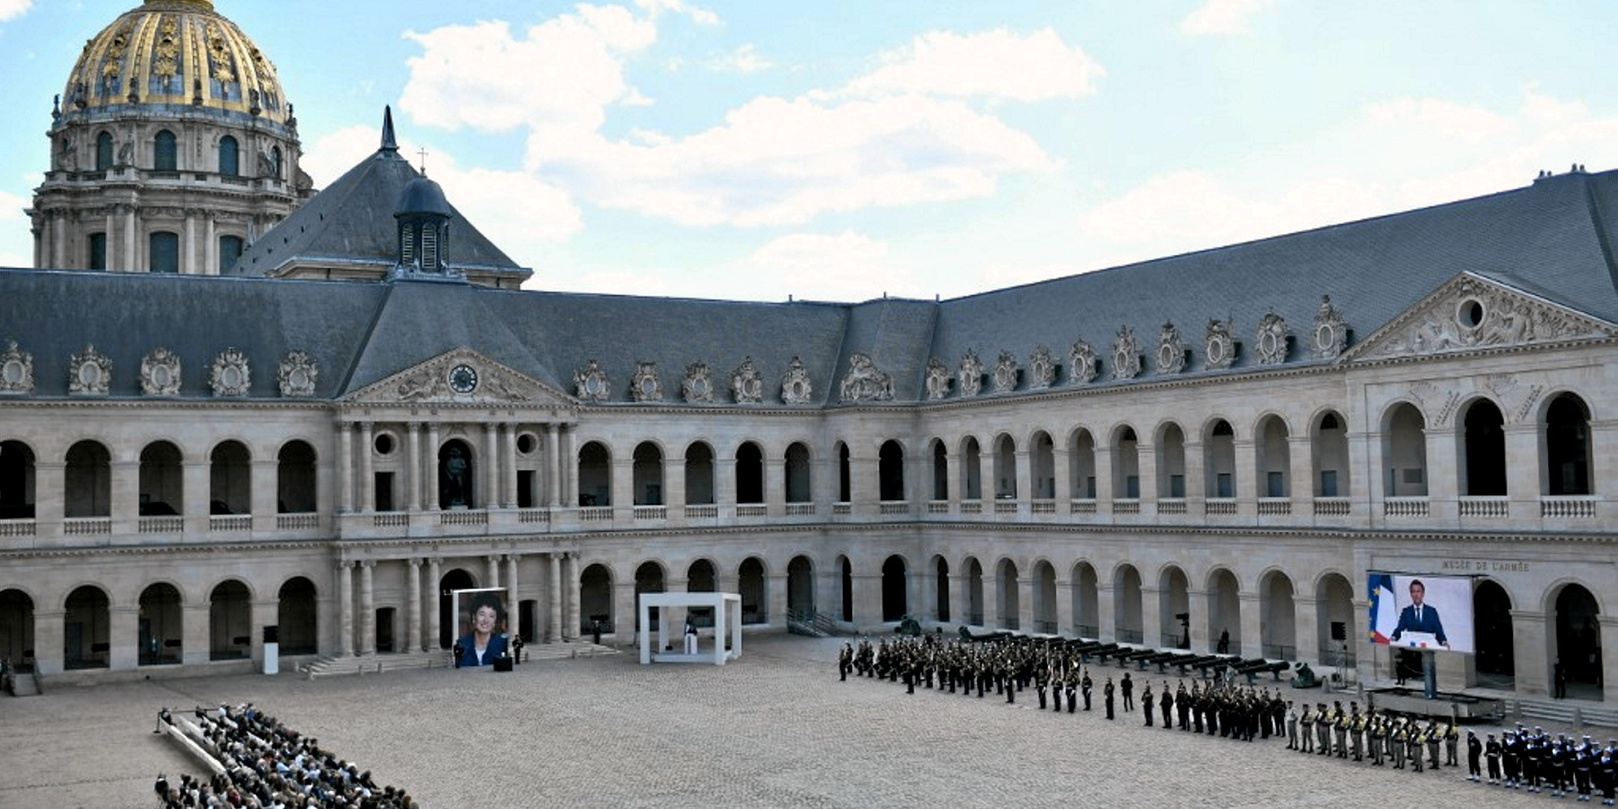
<instances>
[{"instance_id":1,"label":"carved stone pediment with round window above the Mus\u00e9e de l'Arm\u00e9e sign","mask_svg":"<svg viewBox=\"0 0 1618 809\"><path fill-rule=\"evenodd\" d=\"M1349 349L1345 361L1463 354L1615 335L1618 327L1602 319L1463 272Z\"/></svg>"}]
</instances>

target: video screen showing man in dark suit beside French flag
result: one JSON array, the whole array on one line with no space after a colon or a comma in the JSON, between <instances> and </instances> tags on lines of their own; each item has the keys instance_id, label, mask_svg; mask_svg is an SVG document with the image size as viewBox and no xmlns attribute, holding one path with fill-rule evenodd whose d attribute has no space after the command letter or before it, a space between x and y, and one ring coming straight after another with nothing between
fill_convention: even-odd
<instances>
[{"instance_id":1,"label":"video screen showing man in dark suit beside French flag","mask_svg":"<svg viewBox=\"0 0 1618 809\"><path fill-rule=\"evenodd\" d=\"M1474 652L1472 579L1370 573L1370 642Z\"/></svg>"}]
</instances>

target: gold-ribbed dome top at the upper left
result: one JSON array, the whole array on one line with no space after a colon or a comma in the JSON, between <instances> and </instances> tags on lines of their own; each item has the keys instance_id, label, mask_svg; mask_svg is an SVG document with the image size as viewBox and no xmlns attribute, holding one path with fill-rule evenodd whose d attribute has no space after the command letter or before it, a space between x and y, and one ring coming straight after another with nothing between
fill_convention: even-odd
<instances>
[{"instance_id":1,"label":"gold-ribbed dome top at the upper left","mask_svg":"<svg viewBox=\"0 0 1618 809\"><path fill-rule=\"evenodd\" d=\"M275 66L209 0L146 0L84 44L63 112L186 104L286 118Z\"/></svg>"}]
</instances>

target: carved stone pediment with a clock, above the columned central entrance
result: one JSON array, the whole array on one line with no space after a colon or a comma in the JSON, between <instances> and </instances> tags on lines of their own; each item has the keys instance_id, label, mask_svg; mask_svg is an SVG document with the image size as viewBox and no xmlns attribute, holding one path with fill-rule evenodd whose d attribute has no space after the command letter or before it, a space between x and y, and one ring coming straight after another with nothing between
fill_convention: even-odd
<instances>
[{"instance_id":1,"label":"carved stone pediment with a clock, above the columned central entrance","mask_svg":"<svg viewBox=\"0 0 1618 809\"><path fill-rule=\"evenodd\" d=\"M447 351L380 382L366 385L346 403L366 404L505 404L571 408L576 401L469 348Z\"/></svg>"}]
</instances>

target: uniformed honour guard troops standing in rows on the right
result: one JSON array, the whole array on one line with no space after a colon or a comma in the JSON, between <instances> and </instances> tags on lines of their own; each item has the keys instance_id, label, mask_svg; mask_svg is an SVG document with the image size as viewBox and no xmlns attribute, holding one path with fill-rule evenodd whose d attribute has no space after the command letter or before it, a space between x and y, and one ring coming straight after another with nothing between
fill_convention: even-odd
<instances>
[{"instance_id":1,"label":"uniformed honour guard troops standing in rows on the right","mask_svg":"<svg viewBox=\"0 0 1618 809\"><path fill-rule=\"evenodd\" d=\"M1016 704L1018 694L1032 686L1039 710L1076 714L1091 710L1094 680L1089 662L1097 654L1095 646L1008 633L985 637L963 633L959 639L945 639L940 631L921 637L879 639L875 644L866 637L858 647L853 642L843 644L838 676L845 681L854 675L856 680L903 683L906 694L914 694L917 686L977 699L992 694L1003 697L1006 704ZM1142 657L1146 652L1149 650L1112 647L1097 657L1102 662L1115 657L1120 665L1128 665L1133 659L1144 670L1150 662ZM1204 671L1215 668L1204 667ZM1163 730L1178 728L1236 741L1277 736L1286 739L1290 751L1369 760L1370 767L1395 770L1437 772L1459 767L1461 728L1455 717L1440 723L1434 718L1379 712L1374 707L1361 710L1358 701L1349 701L1348 709L1341 701L1333 701L1330 707L1315 702L1312 707L1304 704L1299 710L1293 701L1285 699L1278 686L1272 693L1269 688L1238 684L1235 673L1235 668L1226 667L1212 678L1192 680L1189 688L1181 678L1173 689L1163 680L1157 697L1152 684L1146 683L1141 691L1142 725L1154 726L1155 699ZM1123 712L1133 714L1133 681L1128 671L1121 688ZM1113 693L1115 684L1108 676L1103 684L1107 720L1115 720ZM1599 793L1602 806L1618 804L1618 739L1608 741L1603 749L1590 736L1574 741L1558 733L1552 738L1542 728L1527 730L1521 723L1502 736L1503 741L1497 741L1493 733L1487 733L1487 741L1480 741L1477 731L1466 731L1466 780L1485 783L1487 760L1490 786L1548 791L1553 798L1576 794L1579 801L1594 801Z\"/></svg>"}]
</instances>

